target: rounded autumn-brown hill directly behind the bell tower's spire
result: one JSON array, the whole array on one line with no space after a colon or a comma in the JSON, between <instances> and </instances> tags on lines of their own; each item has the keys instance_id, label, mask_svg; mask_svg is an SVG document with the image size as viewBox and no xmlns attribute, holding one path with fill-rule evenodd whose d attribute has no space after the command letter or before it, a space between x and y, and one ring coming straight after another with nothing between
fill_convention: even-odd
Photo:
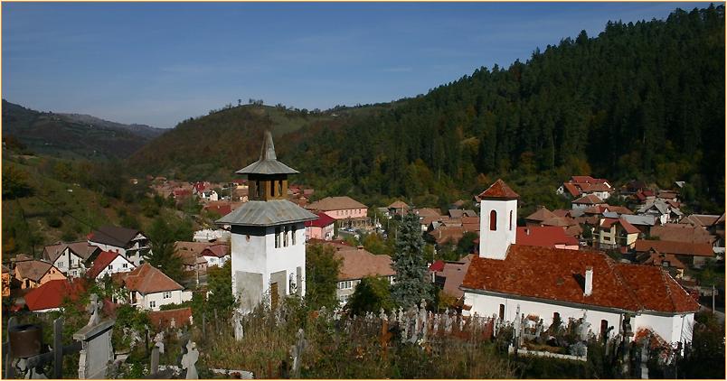
<instances>
[{"instance_id":1,"label":"rounded autumn-brown hill directly behind the bell tower's spire","mask_svg":"<svg viewBox=\"0 0 727 381\"><path fill-rule=\"evenodd\" d=\"M335 130L353 116L374 115L392 107L337 107L326 112L261 105L226 107L184 120L134 153L129 163L139 174L164 174L190 181L229 180L232 172L258 159L262 133L267 128L276 136L278 153L286 155L289 146L315 131ZM301 135L301 129L307 134ZM285 138L279 138L282 135Z\"/></svg>"}]
</instances>

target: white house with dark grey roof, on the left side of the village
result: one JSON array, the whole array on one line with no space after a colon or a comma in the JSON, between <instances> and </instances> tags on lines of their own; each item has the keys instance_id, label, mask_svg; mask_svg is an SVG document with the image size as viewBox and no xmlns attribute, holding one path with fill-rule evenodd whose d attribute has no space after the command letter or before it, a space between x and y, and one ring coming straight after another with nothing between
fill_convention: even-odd
<instances>
[{"instance_id":1,"label":"white house with dark grey roof, on the left side of the village","mask_svg":"<svg viewBox=\"0 0 727 381\"><path fill-rule=\"evenodd\" d=\"M90 245L117 252L134 265L141 265L144 257L151 253L149 239L138 229L106 225L91 232L88 239Z\"/></svg>"}]
</instances>

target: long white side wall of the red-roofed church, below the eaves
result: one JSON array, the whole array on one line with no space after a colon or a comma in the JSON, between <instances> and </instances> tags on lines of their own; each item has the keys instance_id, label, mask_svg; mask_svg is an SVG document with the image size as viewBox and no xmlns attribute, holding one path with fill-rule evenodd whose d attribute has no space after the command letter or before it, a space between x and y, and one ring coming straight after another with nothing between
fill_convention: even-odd
<instances>
[{"instance_id":1,"label":"long white side wall of the red-roofed church, below the eaves","mask_svg":"<svg viewBox=\"0 0 727 381\"><path fill-rule=\"evenodd\" d=\"M569 318L575 320L581 319L583 312L586 312L586 321L590 322L590 330L597 336L600 335L601 320L608 321L609 327L613 326L613 330L609 332L609 337L616 336L621 327L621 315L616 312L586 310L571 306L524 301L479 293L465 293L465 304L472 306L472 309L469 311L470 314L477 312L479 316L490 317L493 314L499 314L500 304L505 304L505 321L515 321L515 311L517 311L517 306L520 305L521 314L524 314L525 317L527 315L539 316L543 319L543 324L546 328L552 324L553 312L558 312L561 315L563 325L568 324Z\"/></svg>"}]
</instances>

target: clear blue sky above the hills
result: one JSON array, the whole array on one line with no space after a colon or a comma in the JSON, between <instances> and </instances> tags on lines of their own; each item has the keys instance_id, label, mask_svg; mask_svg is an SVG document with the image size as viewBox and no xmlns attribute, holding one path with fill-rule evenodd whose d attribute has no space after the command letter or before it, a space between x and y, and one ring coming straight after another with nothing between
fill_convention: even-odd
<instances>
[{"instance_id":1,"label":"clear blue sky above the hills","mask_svg":"<svg viewBox=\"0 0 727 381\"><path fill-rule=\"evenodd\" d=\"M352 106L709 3L3 3L2 96L171 127L227 103Z\"/></svg>"}]
</instances>

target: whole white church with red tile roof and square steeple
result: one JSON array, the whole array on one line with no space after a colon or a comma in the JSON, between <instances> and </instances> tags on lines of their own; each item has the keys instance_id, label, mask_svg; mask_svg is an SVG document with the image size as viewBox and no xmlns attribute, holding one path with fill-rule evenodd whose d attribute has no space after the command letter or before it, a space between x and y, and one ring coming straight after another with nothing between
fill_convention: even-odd
<instances>
[{"instance_id":1,"label":"whole white church with red tile roof and square steeple","mask_svg":"<svg viewBox=\"0 0 727 381\"><path fill-rule=\"evenodd\" d=\"M585 316L601 338L618 335L628 316L633 332L692 341L699 304L666 271L597 251L516 245L517 193L497 180L479 198L479 255L461 285L469 313L515 321L519 310L546 327L556 316L563 322Z\"/></svg>"}]
</instances>

